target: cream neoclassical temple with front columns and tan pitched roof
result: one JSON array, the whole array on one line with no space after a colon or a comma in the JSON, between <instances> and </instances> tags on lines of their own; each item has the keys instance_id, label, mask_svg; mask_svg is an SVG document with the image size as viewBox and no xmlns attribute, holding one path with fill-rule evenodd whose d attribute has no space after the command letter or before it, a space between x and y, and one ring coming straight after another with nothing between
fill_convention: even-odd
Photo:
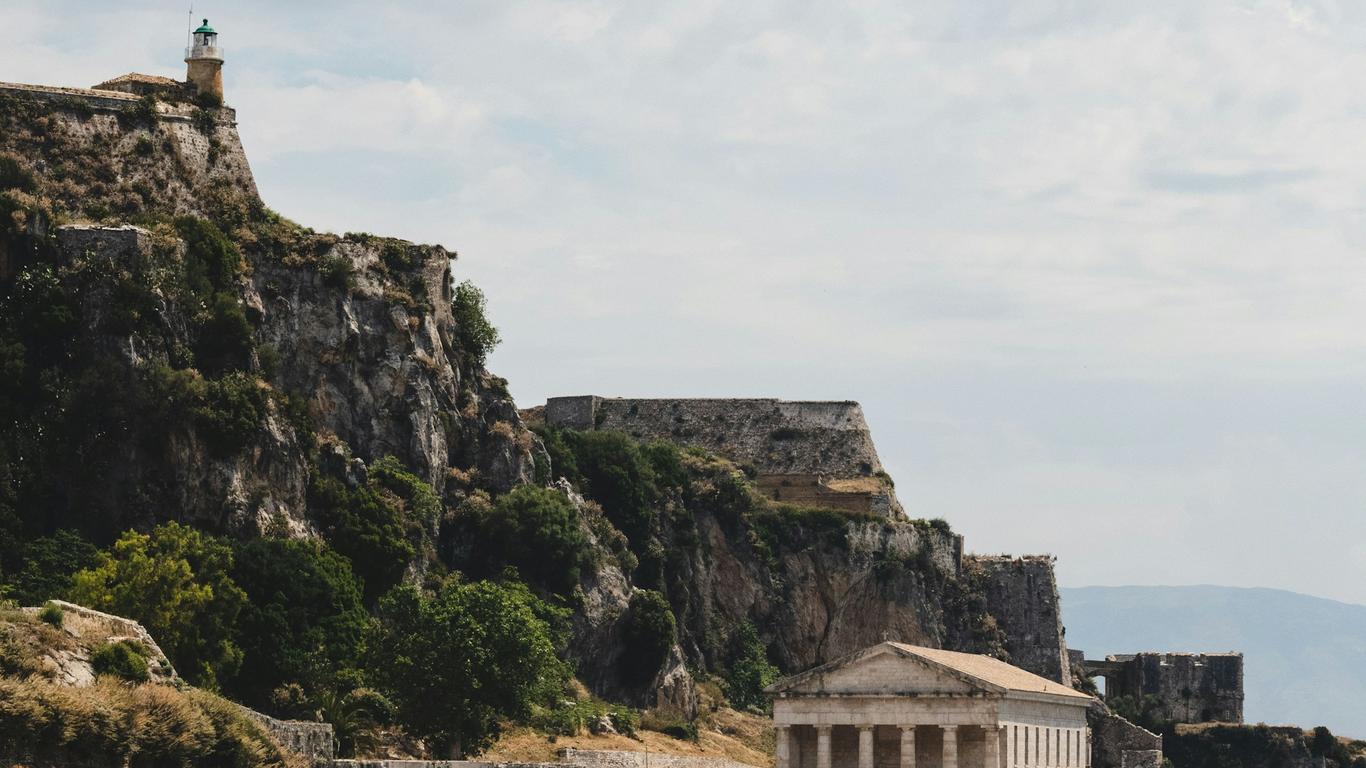
<instances>
[{"instance_id":1,"label":"cream neoclassical temple with front columns and tan pitched roof","mask_svg":"<svg viewBox=\"0 0 1366 768\"><path fill-rule=\"evenodd\" d=\"M768 693L777 768L1090 765L1091 697L989 656L882 642Z\"/></svg>"}]
</instances>

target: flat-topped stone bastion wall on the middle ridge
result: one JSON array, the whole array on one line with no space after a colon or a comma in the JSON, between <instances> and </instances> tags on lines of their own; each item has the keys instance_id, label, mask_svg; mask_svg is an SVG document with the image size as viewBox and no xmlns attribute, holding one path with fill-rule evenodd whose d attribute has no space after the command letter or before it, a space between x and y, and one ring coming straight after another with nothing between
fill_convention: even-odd
<instances>
[{"instance_id":1,"label":"flat-topped stone bastion wall on the middle ridge","mask_svg":"<svg viewBox=\"0 0 1366 768\"><path fill-rule=\"evenodd\" d=\"M753 470L779 502L902 517L863 409L851 400L550 398L545 422L671 440Z\"/></svg>"}]
</instances>

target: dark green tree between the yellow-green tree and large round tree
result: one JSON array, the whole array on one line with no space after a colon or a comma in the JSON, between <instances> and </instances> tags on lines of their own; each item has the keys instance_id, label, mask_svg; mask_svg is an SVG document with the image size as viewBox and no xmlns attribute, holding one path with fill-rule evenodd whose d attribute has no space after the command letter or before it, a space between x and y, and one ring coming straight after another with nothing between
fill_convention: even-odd
<instances>
[{"instance_id":1,"label":"dark green tree between the yellow-green tree and large round tree","mask_svg":"<svg viewBox=\"0 0 1366 768\"><path fill-rule=\"evenodd\" d=\"M224 686L235 697L266 705L280 686L333 687L359 666L369 614L346 558L316 541L255 538L234 547L232 581L247 596L242 668Z\"/></svg>"}]
</instances>

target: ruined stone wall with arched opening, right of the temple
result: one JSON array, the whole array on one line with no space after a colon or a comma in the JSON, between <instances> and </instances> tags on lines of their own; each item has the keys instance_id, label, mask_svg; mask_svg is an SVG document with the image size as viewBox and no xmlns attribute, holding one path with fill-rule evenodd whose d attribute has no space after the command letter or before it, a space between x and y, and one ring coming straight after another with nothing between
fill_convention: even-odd
<instances>
[{"instance_id":1,"label":"ruined stone wall with arched opening, right of the temple","mask_svg":"<svg viewBox=\"0 0 1366 768\"><path fill-rule=\"evenodd\" d=\"M1105 674L1105 697L1154 697L1173 723L1242 723L1242 653L1134 653Z\"/></svg>"}]
</instances>

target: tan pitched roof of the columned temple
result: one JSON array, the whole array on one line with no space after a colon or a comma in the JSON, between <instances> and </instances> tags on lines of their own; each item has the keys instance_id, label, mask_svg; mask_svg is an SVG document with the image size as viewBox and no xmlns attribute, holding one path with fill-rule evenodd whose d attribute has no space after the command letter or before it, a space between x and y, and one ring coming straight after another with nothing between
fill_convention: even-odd
<instances>
[{"instance_id":1,"label":"tan pitched roof of the columned temple","mask_svg":"<svg viewBox=\"0 0 1366 768\"><path fill-rule=\"evenodd\" d=\"M996 693L1030 693L1075 698L1079 702L1090 701L1091 697L1079 690L1072 690L1048 678L1027 672L1019 667L1007 664L1000 659L982 656L979 653L959 653L956 650L941 650L938 648L923 648L907 645L904 642L882 642L863 650L856 650L848 656L836 659L828 664L807 670L798 675L781 679L768 689L768 693L781 694L796 689L813 678L822 676L840 667L858 664L873 656L895 653L903 659L915 659L921 663L940 670L953 678L959 678L974 687L992 690ZM839 693L839 691L824 691Z\"/></svg>"}]
</instances>

